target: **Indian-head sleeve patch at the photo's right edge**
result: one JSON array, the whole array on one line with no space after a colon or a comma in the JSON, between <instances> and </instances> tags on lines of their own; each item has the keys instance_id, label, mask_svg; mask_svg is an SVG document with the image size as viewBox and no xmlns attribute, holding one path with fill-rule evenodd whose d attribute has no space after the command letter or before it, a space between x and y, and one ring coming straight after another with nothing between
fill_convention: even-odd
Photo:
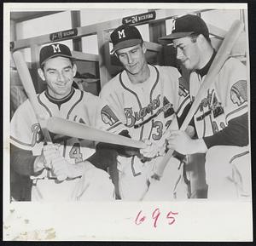
<instances>
[{"instance_id":1,"label":"Indian-head sleeve patch at the photo's right edge","mask_svg":"<svg viewBox=\"0 0 256 246\"><path fill-rule=\"evenodd\" d=\"M230 99L237 106L247 101L247 81L239 80L230 89Z\"/></svg>"}]
</instances>

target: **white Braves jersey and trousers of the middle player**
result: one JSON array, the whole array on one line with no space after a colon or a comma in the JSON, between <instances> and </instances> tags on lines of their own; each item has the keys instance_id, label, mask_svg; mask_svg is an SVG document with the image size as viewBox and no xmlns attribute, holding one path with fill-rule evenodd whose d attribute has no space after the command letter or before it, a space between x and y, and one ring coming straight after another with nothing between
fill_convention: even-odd
<instances>
[{"instance_id":1,"label":"white Braves jersey and trousers of the middle player","mask_svg":"<svg viewBox=\"0 0 256 246\"><path fill-rule=\"evenodd\" d=\"M189 103L189 93L179 87L181 76L176 68L149 66L149 69L148 80L137 84L131 83L125 71L120 72L102 88L100 96L128 127L132 139L148 139L161 146L165 144L166 130L177 129L176 116ZM148 175L159 161L160 157L151 163L142 163L137 156L118 157L122 199L141 198L147 189Z\"/></svg>"}]
</instances>

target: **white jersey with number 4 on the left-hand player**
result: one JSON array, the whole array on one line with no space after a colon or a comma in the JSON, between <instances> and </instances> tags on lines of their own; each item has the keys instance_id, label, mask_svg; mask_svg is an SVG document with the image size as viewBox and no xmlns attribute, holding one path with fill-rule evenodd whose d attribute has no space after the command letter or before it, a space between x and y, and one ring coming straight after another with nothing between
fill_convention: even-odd
<instances>
[{"instance_id":1,"label":"white jersey with number 4 on the left-hand player","mask_svg":"<svg viewBox=\"0 0 256 246\"><path fill-rule=\"evenodd\" d=\"M65 118L113 133L119 132L122 128L122 123L119 122L107 104L93 94L73 89L66 99L61 99L61 104L58 103L59 101L51 98L46 91L38 94L38 105L44 115ZM59 127L61 128L61 125ZM53 142L61 144L61 155L69 163L79 163L95 152L95 144L92 141L59 135L53 135L52 139ZM39 156L42 152L43 134L29 100L20 105L11 120L10 140L13 145L20 149L32 151L33 156ZM52 177L52 174L44 169L42 174L33 178L44 179L45 185L48 178ZM37 186L40 189L39 181Z\"/></svg>"}]
</instances>

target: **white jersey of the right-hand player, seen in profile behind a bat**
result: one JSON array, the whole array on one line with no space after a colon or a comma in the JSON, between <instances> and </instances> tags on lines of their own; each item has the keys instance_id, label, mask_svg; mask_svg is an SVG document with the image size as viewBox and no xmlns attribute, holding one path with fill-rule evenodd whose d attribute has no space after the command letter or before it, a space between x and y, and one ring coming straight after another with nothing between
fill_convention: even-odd
<instances>
[{"instance_id":1,"label":"white jersey of the right-hand player, seen in profile behind a bat","mask_svg":"<svg viewBox=\"0 0 256 246\"><path fill-rule=\"evenodd\" d=\"M189 93L193 101L201 83L198 73L189 78ZM215 81L195 113L195 128L199 138L210 136L224 129L229 121L247 112L246 67L234 58L226 60Z\"/></svg>"}]
</instances>

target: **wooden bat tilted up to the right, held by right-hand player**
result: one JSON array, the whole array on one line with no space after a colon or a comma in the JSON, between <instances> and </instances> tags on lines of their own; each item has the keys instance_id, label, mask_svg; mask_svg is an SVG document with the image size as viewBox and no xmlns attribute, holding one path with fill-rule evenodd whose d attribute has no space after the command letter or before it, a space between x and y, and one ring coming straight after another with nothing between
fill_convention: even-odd
<instances>
[{"instance_id":1,"label":"wooden bat tilted up to the right, held by right-hand player","mask_svg":"<svg viewBox=\"0 0 256 246\"><path fill-rule=\"evenodd\" d=\"M185 117L183 124L181 126L181 130L187 129L190 120L194 117L195 112L197 111L198 107L201 104L201 100L203 99L204 95L207 93L207 89L210 88L212 82L214 81L214 77L218 75L221 67L224 65L225 60L227 60L230 56L231 50L236 43L237 38L243 31L244 25L240 20L235 20L232 26L230 26L230 30L226 33L223 42L221 43L218 52L212 61L212 65L210 66L209 71L207 72L207 76L204 82L201 85L201 88L198 90L198 93L195 96L195 100L189 109L188 115ZM164 170L166 168L166 164L168 163L169 159L172 157L173 150L169 150L166 153L166 156L163 158L161 163L158 166L158 169L155 170L153 175L153 179L159 180Z\"/></svg>"}]
</instances>

